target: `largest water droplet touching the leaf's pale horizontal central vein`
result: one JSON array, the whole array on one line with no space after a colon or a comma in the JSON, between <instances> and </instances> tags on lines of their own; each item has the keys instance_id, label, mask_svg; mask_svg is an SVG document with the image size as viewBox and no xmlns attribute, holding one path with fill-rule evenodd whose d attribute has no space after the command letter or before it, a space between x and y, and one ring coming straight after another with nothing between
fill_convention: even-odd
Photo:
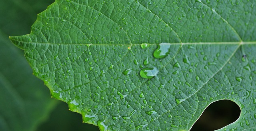
<instances>
[{"instance_id":1,"label":"largest water droplet touching the leaf's pale horizontal central vein","mask_svg":"<svg viewBox=\"0 0 256 131\"><path fill-rule=\"evenodd\" d=\"M153 55L156 58L164 58L170 53L170 44L160 43L158 48L154 51Z\"/></svg>"}]
</instances>

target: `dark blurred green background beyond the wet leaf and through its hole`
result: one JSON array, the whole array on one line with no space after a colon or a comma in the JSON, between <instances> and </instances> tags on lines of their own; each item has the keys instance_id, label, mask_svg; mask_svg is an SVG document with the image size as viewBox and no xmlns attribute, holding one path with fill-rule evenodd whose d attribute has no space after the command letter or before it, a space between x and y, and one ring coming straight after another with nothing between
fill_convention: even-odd
<instances>
[{"instance_id":1,"label":"dark blurred green background beyond the wet leaf and through its hole","mask_svg":"<svg viewBox=\"0 0 256 131\"><path fill-rule=\"evenodd\" d=\"M0 0L0 131L98 131L82 123L68 105L50 98L49 89L32 75L24 51L8 36L30 33L38 13L54 0ZM193 131L212 131L234 122L239 107L231 101L211 104Z\"/></svg>"}]
</instances>

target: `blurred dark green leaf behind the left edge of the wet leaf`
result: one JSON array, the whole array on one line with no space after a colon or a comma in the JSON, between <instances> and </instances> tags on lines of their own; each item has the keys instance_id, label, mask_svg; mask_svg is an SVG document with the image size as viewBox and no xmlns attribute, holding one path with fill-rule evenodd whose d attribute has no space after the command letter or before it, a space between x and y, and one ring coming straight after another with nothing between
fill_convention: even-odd
<instances>
[{"instance_id":1,"label":"blurred dark green leaf behind the left edge of the wet leaf","mask_svg":"<svg viewBox=\"0 0 256 131\"><path fill-rule=\"evenodd\" d=\"M38 7L33 2L0 4L0 131L35 131L57 104L43 82L32 75L23 52L8 39L8 35L29 33L36 14L27 11L41 12L50 3L39 0Z\"/></svg>"}]
</instances>

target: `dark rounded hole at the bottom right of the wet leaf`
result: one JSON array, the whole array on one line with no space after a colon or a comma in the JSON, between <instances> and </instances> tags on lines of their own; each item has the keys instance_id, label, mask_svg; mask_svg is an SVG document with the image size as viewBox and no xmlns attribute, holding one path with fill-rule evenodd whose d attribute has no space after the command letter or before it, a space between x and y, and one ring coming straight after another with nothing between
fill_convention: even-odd
<instances>
[{"instance_id":1,"label":"dark rounded hole at the bottom right of the wet leaf","mask_svg":"<svg viewBox=\"0 0 256 131\"><path fill-rule=\"evenodd\" d=\"M239 106L230 100L220 100L210 104L190 131L214 131L230 123L240 116Z\"/></svg>"}]
</instances>

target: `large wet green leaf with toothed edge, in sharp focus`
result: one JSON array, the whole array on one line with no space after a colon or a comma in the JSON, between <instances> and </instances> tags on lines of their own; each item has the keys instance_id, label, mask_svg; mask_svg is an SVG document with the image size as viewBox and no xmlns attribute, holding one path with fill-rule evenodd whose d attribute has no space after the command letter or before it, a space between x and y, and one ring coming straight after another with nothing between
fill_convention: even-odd
<instances>
[{"instance_id":1,"label":"large wet green leaf with toothed edge, in sharp focus","mask_svg":"<svg viewBox=\"0 0 256 131\"><path fill-rule=\"evenodd\" d=\"M218 100L220 130L255 129L254 1L56 0L10 37L52 96L100 130L191 129Z\"/></svg>"}]
</instances>

